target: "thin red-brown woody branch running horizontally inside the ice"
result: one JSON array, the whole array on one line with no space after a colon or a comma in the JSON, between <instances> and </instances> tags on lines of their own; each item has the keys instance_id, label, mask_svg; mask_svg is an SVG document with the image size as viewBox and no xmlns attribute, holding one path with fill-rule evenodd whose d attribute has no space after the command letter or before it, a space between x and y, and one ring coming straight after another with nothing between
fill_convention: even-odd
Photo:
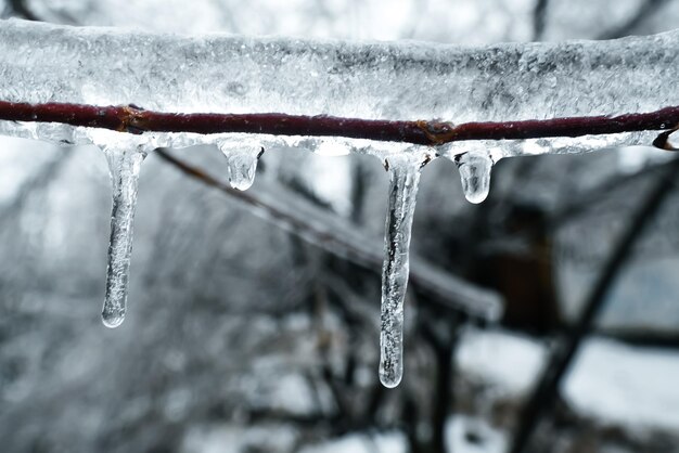
<instances>
[{"instance_id":1,"label":"thin red-brown woody branch running horizontally inside the ice","mask_svg":"<svg viewBox=\"0 0 679 453\"><path fill-rule=\"evenodd\" d=\"M549 137L581 137L670 130L679 125L679 106L650 113L619 116L582 116L501 122L453 125L438 120L399 121L384 119L304 116L281 113L217 114L163 113L129 106L95 106L62 103L15 103L0 101L0 119L62 122L105 128L120 132L247 132L274 135L346 137L377 141L440 145L463 140L516 140ZM669 134L667 134L668 137ZM666 139L656 145L666 144ZM661 146L663 147L663 146ZM666 146L665 146L666 147Z\"/></svg>"}]
</instances>

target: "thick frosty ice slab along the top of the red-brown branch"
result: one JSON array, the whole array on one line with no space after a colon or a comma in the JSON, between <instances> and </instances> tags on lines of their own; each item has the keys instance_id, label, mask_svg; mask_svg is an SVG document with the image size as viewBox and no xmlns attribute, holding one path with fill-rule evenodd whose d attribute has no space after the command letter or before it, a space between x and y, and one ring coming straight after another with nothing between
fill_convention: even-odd
<instances>
[{"instance_id":1,"label":"thick frosty ice slab along the top of the red-brown branch","mask_svg":"<svg viewBox=\"0 0 679 453\"><path fill-rule=\"evenodd\" d=\"M679 105L678 44L679 31L475 48L181 37L10 20L0 22L0 99L453 124L619 115ZM0 124L5 133L18 128ZM648 143L642 133L566 139L556 151L640 140ZM508 146L504 155L552 152L552 142Z\"/></svg>"}]
</instances>

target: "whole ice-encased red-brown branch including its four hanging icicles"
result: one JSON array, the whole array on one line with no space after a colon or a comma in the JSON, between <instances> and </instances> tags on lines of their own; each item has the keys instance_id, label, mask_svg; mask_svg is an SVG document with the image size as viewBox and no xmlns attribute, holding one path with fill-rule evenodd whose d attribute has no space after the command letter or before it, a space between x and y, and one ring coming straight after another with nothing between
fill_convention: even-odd
<instances>
[{"instance_id":1,"label":"whole ice-encased red-brown branch including its four hanging icicles","mask_svg":"<svg viewBox=\"0 0 679 453\"><path fill-rule=\"evenodd\" d=\"M421 168L435 155L454 159L467 199L479 203L498 158L652 142L675 148L678 56L679 30L471 48L0 21L0 133L106 152L110 326L125 314L137 178L148 152L217 145L238 189L252 183L265 147L376 155L392 179L381 363L383 383L394 386Z\"/></svg>"}]
</instances>

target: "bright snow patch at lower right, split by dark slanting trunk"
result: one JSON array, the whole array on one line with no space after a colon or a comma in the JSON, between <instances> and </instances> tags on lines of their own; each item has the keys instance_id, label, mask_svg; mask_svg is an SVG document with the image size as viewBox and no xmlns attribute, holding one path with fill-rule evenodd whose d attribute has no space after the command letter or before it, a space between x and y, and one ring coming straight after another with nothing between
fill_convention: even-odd
<instances>
[{"instance_id":1,"label":"bright snow patch at lower right, split by dark slanting trunk","mask_svg":"<svg viewBox=\"0 0 679 453\"><path fill-rule=\"evenodd\" d=\"M546 348L505 332L464 333L457 352L460 371L521 397L535 384ZM566 376L563 396L572 407L604 424L630 429L679 429L679 353L591 338Z\"/></svg>"}]
</instances>

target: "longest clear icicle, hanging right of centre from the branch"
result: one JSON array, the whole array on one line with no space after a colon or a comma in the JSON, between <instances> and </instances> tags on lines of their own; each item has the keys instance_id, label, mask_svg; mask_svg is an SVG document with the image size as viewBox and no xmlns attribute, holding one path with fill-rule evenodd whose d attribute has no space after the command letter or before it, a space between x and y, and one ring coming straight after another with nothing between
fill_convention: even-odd
<instances>
[{"instance_id":1,"label":"longest clear icicle, hanging right of centre from the branch","mask_svg":"<svg viewBox=\"0 0 679 453\"><path fill-rule=\"evenodd\" d=\"M403 375L403 299L408 286L408 249L422 161L389 156L389 203L382 267L380 380L396 387Z\"/></svg>"}]
</instances>

